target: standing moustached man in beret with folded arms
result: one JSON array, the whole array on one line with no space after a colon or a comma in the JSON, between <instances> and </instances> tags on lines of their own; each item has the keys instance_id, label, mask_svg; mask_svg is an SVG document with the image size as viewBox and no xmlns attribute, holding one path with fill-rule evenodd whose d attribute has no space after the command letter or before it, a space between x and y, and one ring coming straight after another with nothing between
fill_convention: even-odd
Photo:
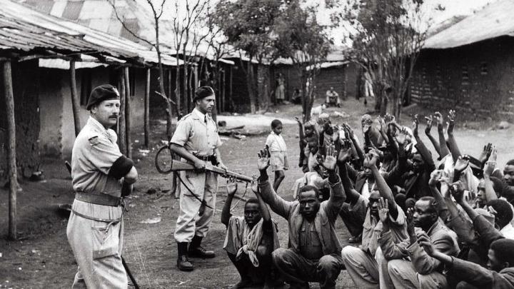
<instances>
[{"instance_id":1,"label":"standing moustached man in beret with folded arms","mask_svg":"<svg viewBox=\"0 0 514 289\"><path fill-rule=\"evenodd\" d=\"M89 96L91 113L71 154L75 200L66 229L79 268L72 288L127 288L121 250L124 241L121 201L138 173L116 144L111 129L119 118L116 87L102 85ZM120 190L120 180L123 185Z\"/></svg>"}]
</instances>

